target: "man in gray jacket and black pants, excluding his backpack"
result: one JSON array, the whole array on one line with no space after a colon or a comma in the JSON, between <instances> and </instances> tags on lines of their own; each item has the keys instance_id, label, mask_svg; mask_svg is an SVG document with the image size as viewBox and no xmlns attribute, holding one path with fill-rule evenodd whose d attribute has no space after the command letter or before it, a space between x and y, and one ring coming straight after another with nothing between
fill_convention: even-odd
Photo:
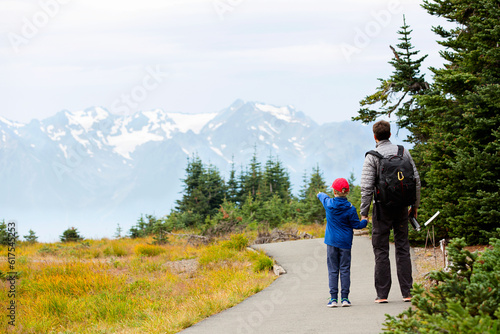
<instances>
[{"instance_id":1,"label":"man in gray jacket and black pants, excluding his backpack","mask_svg":"<svg viewBox=\"0 0 500 334\"><path fill-rule=\"evenodd\" d=\"M373 134L376 142L375 151L382 156L388 157L398 153L398 146L393 145L391 137L391 125L386 121L379 121L373 125ZM420 203L420 178L417 168L410 155L405 149L403 156L408 158L413 166L416 179L416 201L408 207L389 207L386 203L374 201L373 207L373 229L372 245L375 254L375 289L377 291L376 303L387 303L387 297L391 289L391 265L389 261L389 235L394 230L394 242L396 246L396 267L399 287L403 300L411 301L411 288L413 285L410 243L408 241L408 215L417 217L417 209ZM372 154L367 154L361 174L361 219L368 219L368 212L375 189L380 159Z\"/></svg>"}]
</instances>

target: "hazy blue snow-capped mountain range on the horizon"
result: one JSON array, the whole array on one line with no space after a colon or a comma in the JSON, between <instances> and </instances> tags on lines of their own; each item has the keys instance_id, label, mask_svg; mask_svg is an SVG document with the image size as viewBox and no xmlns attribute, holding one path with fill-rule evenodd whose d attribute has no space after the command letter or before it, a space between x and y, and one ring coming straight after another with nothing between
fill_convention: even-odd
<instances>
[{"instance_id":1,"label":"hazy blue snow-capped mountain range on the horizon","mask_svg":"<svg viewBox=\"0 0 500 334\"><path fill-rule=\"evenodd\" d=\"M352 122L318 125L292 106L235 101L216 113L163 110L128 116L103 108L61 111L19 124L0 118L0 219L18 220L56 240L77 227L86 237L112 236L141 213L168 214L181 191L186 159L198 154L223 175L232 161L248 165L278 156L294 191L316 164L331 182L360 176L371 128Z\"/></svg>"}]
</instances>

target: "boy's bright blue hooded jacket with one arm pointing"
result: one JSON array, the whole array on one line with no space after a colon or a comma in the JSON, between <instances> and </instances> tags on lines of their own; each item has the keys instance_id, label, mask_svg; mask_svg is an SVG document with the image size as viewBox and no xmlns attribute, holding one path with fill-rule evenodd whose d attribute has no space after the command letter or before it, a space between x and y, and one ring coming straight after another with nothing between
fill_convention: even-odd
<instances>
[{"instance_id":1,"label":"boy's bright blue hooded jacket with one arm pointing","mask_svg":"<svg viewBox=\"0 0 500 334\"><path fill-rule=\"evenodd\" d=\"M359 221L356 208L345 197L330 198L319 193L318 199L326 211L325 244L344 248L352 248L353 229L365 228L368 222Z\"/></svg>"}]
</instances>

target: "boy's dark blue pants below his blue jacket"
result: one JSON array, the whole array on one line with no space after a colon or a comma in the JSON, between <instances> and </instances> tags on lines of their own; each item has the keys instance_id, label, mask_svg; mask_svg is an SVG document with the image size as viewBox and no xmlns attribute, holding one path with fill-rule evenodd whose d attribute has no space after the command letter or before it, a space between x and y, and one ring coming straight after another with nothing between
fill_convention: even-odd
<instances>
[{"instance_id":1,"label":"boy's dark blue pants below his blue jacket","mask_svg":"<svg viewBox=\"0 0 500 334\"><path fill-rule=\"evenodd\" d=\"M326 255L331 298L338 298L339 273L340 284L342 286L340 296L341 298L349 298L349 289L351 287L351 250L326 245Z\"/></svg>"}]
</instances>

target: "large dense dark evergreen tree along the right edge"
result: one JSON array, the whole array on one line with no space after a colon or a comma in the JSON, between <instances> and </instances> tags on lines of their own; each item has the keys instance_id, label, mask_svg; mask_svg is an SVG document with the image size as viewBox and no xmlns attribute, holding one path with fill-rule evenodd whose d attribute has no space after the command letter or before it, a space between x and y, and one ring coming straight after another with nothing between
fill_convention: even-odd
<instances>
[{"instance_id":1,"label":"large dense dark evergreen tree along the right edge","mask_svg":"<svg viewBox=\"0 0 500 334\"><path fill-rule=\"evenodd\" d=\"M424 209L441 211L440 236L484 243L500 226L500 7L492 0L423 7L457 25L433 28L446 64L431 68L433 90L417 100L432 125L416 157Z\"/></svg>"}]
</instances>

